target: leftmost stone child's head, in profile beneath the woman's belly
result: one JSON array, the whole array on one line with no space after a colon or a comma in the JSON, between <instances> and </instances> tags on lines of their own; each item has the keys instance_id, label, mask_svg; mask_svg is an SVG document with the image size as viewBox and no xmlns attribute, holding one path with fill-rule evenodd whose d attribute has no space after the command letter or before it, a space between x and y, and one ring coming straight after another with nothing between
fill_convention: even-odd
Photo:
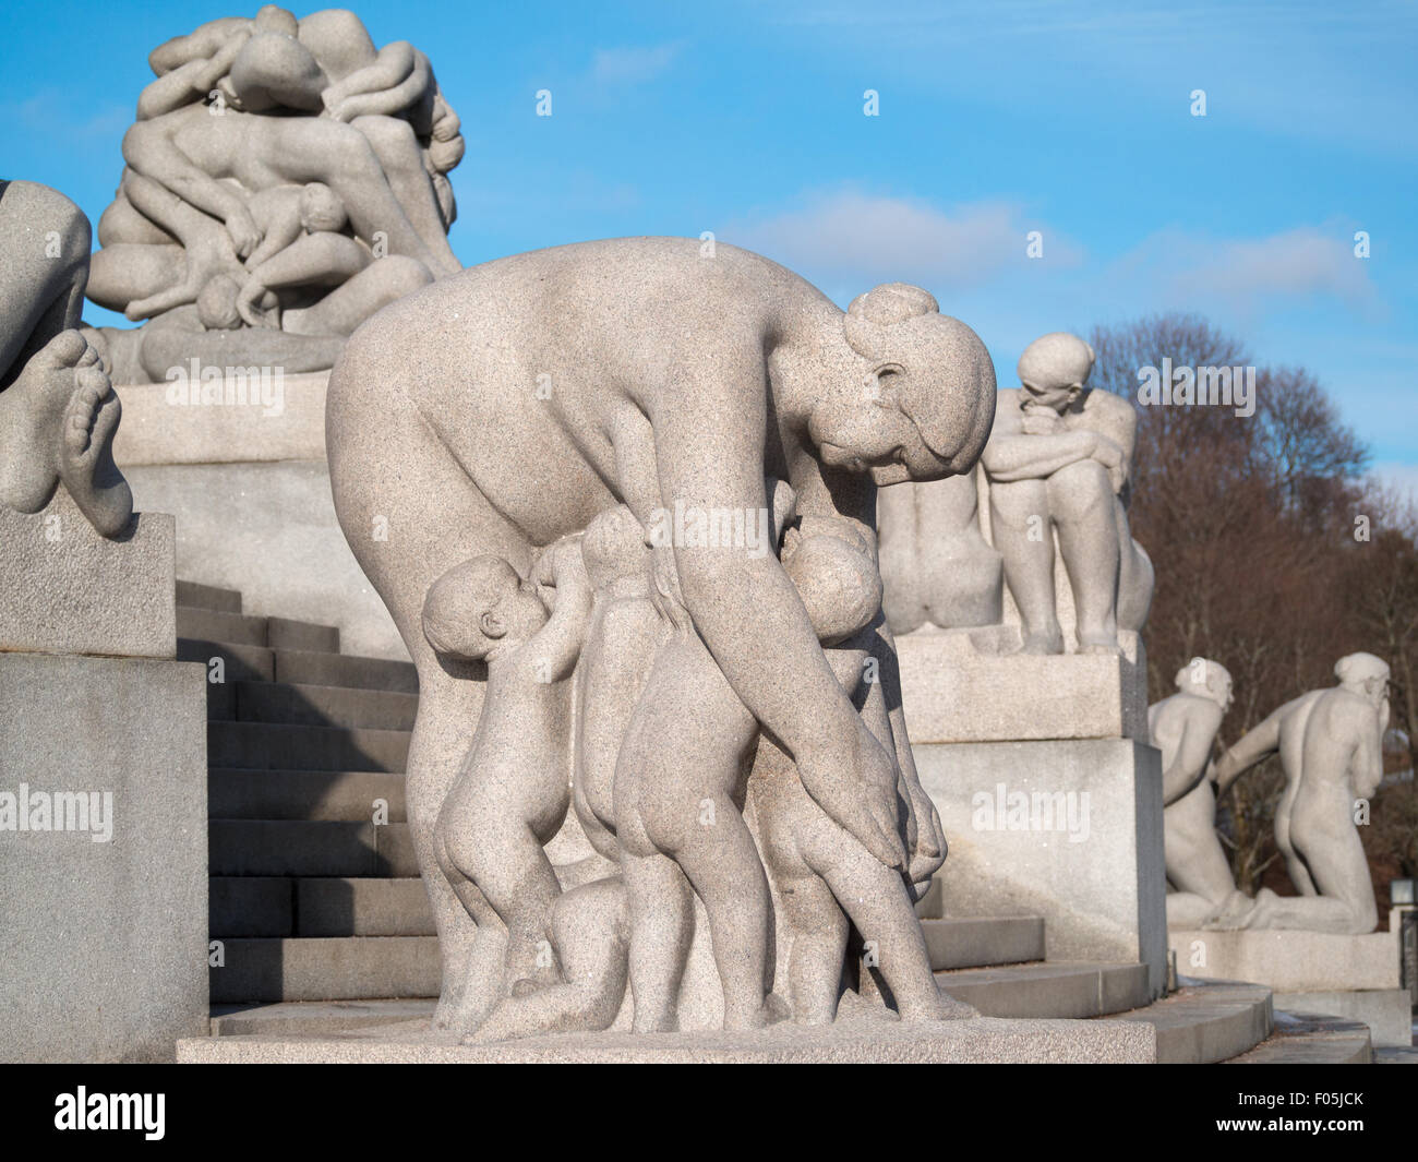
<instances>
[{"instance_id":1,"label":"leftmost stone child's head, in profile beneath the woman's belly","mask_svg":"<svg viewBox=\"0 0 1418 1162\"><path fill-rule=\"evenodd\" d=\"M424 637L444 657L485 658L499 641L525 641L546 619L546 606L501 556L455 565L424 597Z\"/></svg>"}]
</instances>

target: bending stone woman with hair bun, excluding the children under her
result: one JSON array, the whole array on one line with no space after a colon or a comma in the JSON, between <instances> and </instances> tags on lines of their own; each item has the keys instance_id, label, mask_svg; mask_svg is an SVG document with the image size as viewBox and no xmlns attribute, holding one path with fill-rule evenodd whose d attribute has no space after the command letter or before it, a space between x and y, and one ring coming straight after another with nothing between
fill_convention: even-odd
<instances>
[{"instance_id":1,"label":"bending stone woman with hair bun, excluding the children under her","mask_svg":"<svg viewBox=\"0 0 1418 1162\"><path fill-rule=\"evenodd\" d=\"M475 925L440 885L432 824L485 675L445 665L424 640L432 582L479 553L525 575L533 549L620 504L645 528L676 502L756 512L767 474L793 487L800 514L847 516L875 543L876 488L968 471L993 407L984 345L925 291L878 287L844 315L766 258L723 244L703 257L685 238L501 258L354 332L330 376L330 482L418 665L408 810L444 955L441 1019L458 1007ZM939 863L934 820L915 802L905 827L899 817L898 763L912 776L915 765L889 631L873 654L896 762L837 682L776 556L675 546L674 566L705 646L814 800L882 863L905 867L906 839Z\"/></svg>"}]
</instances>

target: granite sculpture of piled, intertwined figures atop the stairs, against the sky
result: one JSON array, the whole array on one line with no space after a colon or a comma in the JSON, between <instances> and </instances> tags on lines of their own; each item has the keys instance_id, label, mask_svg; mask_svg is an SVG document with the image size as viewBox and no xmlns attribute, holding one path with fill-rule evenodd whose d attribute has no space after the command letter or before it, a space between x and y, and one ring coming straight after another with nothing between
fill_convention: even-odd
<instances>
[{"instance_id":1,"label":"granite sculpture of piled, intertwined figures atop the stairs, against the sky","mask_svg":"<svg viewBox=\"0 0 1418 1162\"><path fill-rule=\"evenodd\" d=\"M350 11L268 4L149 65L88 288L143 323L104 331L121 377L160 382L193 356L329 367L363 319L461 268L447 175L464 139L407 41L376 48Z\"/></svg>"}]
</instances>

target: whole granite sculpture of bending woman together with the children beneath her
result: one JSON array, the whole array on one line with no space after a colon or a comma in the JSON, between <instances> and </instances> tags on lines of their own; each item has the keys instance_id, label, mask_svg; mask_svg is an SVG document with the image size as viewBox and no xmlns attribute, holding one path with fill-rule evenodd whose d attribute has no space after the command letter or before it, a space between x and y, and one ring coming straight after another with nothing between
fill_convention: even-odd
<instances>
[{"instance_id":1,"label":"whole granite sculpture of bending woman together with the children beneath her","mask_svg":"<svg viewBox=\"0 0 1418 1162\"><path fill-rule=\"evenodd\" d=\"M486 262L353 335L329 387L330 480L420 674L408 810L444 958L435 1024L472 1033L499 1005L529 1002L533 1027L519 1017L508 1031L604 1027L628 963L637 1029L674 1027L691 888L726 1023L769 1020L773 949L720 939L764 934L763 870L754 854L730 898L715 858L744 867L746 782L778 786L784 763L801 799L778 786L781 806L756 803L777 812L770 870L795 861L828 892L869 880L909 909L906 878L930 877L944 839L879 614L876 488L968 471L993 411L988 353L927 292L878 287L844 314L756 254L705 257L679 238ZM706 524L725 535L685 535ZM824 644L849 657L834 663ZM574 884L533 850L569 802L598 853L564 877ZM702 814L718 857L688 830ZM459 850L471 826L520 853L510 890L475 844ZM896 887L855 857L822 858L831 836ZM903 962L915 955L909 932L891 938ZM542 941L562 972L529 962ZM830 1019L839 959L831 1005L821 958L803 962L794 1016ZM919 970L898 969L899 985L883 976L899 1007L917 989L912 1016L951 1012Z\"/></svg>"}]
</instances>

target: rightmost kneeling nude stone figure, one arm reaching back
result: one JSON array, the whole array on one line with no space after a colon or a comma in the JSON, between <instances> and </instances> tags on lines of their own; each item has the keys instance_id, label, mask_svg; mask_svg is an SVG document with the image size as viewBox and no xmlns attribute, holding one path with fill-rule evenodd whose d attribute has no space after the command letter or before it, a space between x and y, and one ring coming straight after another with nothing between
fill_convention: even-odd
<instances>
[{"instance_id":1,"label":"rightmost kneeling nude stone figure, one arm reaching back","mask_svg":"<svg viewBox=\"0 0 1418 1162\"><path fill-rule=\"evenodd\" d=\"M1378 922L1368 860L1358 839L1357 800L1378 790L1388 726L1388 665L1373 654L1334 664L1337 687L1312 690L1273 711L1222 755L1225 792L1262 759L1279 753L1285 792L1275 809L1275 844L1297 897L1262 888L1255 904L1217 928L1305 928L1361 935Z\"/></svg>"}]
</instances>

